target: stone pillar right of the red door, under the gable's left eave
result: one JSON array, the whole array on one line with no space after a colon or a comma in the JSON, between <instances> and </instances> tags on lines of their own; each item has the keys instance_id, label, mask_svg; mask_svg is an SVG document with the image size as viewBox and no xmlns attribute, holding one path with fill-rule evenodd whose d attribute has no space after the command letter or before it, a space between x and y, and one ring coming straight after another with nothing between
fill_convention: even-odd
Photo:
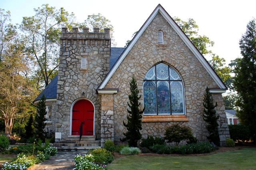
<instances>
[{"instance_id":1,"label":"stone pillar right of the red door, under the gable's left eave","mask_svg":"<svg viewBox=\"0 0 256 170\"><path fill-rule=\"evenodd\" d=\"M113 94L102 94L101 96L101 146L104 141L114 141L114 100Z\"/></svg>"}]
</instances>

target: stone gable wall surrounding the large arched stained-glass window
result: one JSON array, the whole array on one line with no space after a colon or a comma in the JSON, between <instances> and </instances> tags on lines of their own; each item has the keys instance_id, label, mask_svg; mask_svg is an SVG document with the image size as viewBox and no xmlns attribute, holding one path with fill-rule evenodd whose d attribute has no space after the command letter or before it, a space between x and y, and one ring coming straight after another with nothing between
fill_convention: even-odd
<instances>
[{"instance_id":1,"label":"stone gable wall surrounding the large arched stained-glass window","mask_svg":"<svg viewBox=\"0 0 256 170\"><path fill-rule=\"evenodd\" d=\"M164 45L157 43L158 31L163 31ZM181 124L192 128L194 136L200 141L206 140L208 132L203 120L203 97L206 86L218 88L216 82L206 69L180 39L169 23L160 13L152 20L144 33L130 50L124 61L120 64L105 88L119 88L114 94L114 140L123 138L123 121L127 117L127 102L129 82L135 76L138 89L142 95L142 83L146 72L156 63L164 61L174 67L180 74L184 83L186 116L188 122ZM221 96L221 95L220 95ZM220 97L218 97L221 100ZM143 97L140 100L143 107ZM219 104L224 106L223 103ZM224 115L223 115L224 117ZM166 126L176 122L142 123L142 135L164 136ZM220 129L222 130L222 129ZM225 129L226 130L226 129Z\"/></svg>"}]
</instances>

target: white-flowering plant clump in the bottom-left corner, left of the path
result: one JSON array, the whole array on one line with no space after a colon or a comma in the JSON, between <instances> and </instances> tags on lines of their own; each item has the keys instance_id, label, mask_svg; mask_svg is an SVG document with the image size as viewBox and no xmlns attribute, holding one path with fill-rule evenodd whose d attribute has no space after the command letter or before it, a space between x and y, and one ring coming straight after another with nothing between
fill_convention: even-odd
<instances>
[{"instance_id":1,"label":"white-flowering plant clump in the bottom-left corner, left of the path","mask_svg":"<svg viewBox=\"0 0 256 170\"><path fill-rule=\"evenodd\" d=\"M35 163L35 159L32 156L27 157L25 155L18 154L16 160L3 164L2 170L26 170Z\"/></svg>"}]
</instances>

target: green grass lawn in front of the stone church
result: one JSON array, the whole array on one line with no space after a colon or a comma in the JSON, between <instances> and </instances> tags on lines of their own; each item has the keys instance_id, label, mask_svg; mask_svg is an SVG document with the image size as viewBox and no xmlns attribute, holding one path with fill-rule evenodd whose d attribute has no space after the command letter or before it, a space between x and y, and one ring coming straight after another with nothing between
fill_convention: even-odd
<instances>
[{"instance_id":1,"label":"green grass lawn in front of the stone church","mask_svg":"<svg viewBox=\"0 0 256 170\"><path fill-rule=\"evenodd\" d=\"M110 170L256 170L256 148L208 156L125 156L108 165Z\"/></svg>"}]
</instances>

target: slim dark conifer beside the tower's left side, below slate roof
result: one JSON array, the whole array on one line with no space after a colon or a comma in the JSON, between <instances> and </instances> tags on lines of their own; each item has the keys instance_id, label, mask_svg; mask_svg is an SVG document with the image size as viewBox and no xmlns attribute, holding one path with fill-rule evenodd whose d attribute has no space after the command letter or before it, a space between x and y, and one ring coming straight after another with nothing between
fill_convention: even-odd
<instances>
[{"instance_id":1,"label":"slim dark conifer beside the tower's left side, below slate roof","mask_svg":"<svg viewBox=\"0 0 256 170\"><path fill-rule=\"evenodd\" d=\"M45 139L46 132L44 131L45 128L45 121L46 121L46 105L45 105L45 97L44 95L40 99L40 101L37 104L37 113L35 117L34 127L36 129L36 138L37 139Z\"/></svg>"}]
</instances>

